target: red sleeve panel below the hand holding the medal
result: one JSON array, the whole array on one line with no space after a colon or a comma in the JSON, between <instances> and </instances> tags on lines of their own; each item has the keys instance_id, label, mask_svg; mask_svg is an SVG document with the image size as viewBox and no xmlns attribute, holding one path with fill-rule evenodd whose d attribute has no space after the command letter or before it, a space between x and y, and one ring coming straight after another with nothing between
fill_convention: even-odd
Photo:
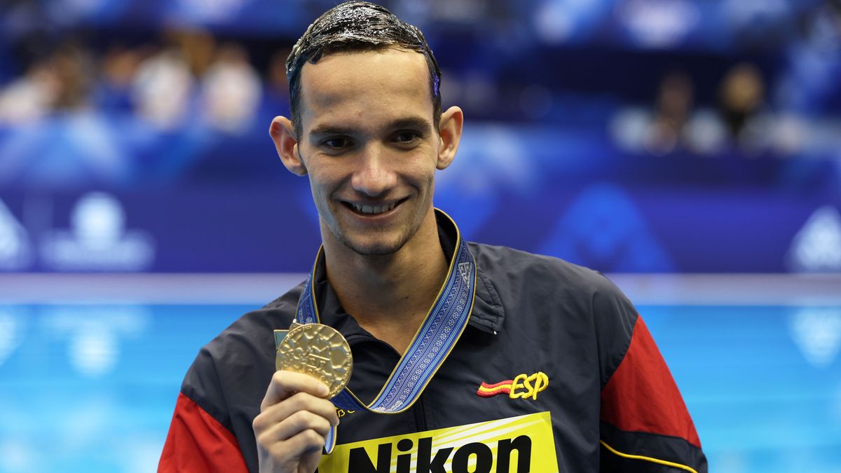
<instances>
[{"instance_id":1,"label":"red sleeve panel below the hand holding the medal","mask_svg":"<svg viewBox=\"0 0 841 473\"><path fill-rule=\"evenodd\" d=\"M230 430L183 393L178 395L158 473L248 473Z\"/></svg>"}]
</instances>

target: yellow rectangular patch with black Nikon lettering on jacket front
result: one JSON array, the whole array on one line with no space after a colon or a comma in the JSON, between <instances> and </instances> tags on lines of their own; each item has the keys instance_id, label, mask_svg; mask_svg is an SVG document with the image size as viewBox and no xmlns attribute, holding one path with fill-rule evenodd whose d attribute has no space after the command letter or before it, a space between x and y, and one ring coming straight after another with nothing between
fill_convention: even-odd
<instances>
[{"instance_id":1,"label":"yellow rectangular patch with black Nikon lettering on jacket front","mask_svg":"<svg viewBox=\"0 0 841 473\"><path fill-rule=\"evenodd\" d=\"M336 445L320 473L558 471L549 412Z\"/></svg>"}]
</instances>

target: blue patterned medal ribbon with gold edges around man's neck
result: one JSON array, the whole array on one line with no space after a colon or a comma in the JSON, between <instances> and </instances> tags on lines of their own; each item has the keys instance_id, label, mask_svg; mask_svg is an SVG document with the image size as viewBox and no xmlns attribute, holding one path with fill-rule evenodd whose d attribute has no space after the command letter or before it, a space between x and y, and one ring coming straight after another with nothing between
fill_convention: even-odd
<instances>
[{"instance_id":1,"label":"blue patterned medal ribbon with gold edges around man's neck","mask_svg":"<svg viewBox=\"0 0 841 473\"><path fill-rule=\"evenodd\" d=\"M467 327L476 295L476 262L452 218L442 210L435 211L452 224L457 235L456 249L452 253L447 279L438 291L435 303L415 333L409 348L406 348L406 352L389 375L389 380L373 401L366 405L350 389L345 388L331 399L336 407L378 414L406 411L421 397L424 388L447 359L447 355L452 352L452 348ZM299 324L320 323L318 307L315 305L314 281L315 268L318 268L323 250L323 247L319 249L298 300L295 322ZM330 454L335 445L336 428L331 428L325 440L325 452Z\"/></svg>"}]
</instances>

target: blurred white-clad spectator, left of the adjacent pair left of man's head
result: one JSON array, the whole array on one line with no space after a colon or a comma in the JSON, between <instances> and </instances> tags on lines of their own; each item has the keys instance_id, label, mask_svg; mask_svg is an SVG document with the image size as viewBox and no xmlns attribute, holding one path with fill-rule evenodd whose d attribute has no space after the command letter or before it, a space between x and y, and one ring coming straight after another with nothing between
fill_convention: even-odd
<instances>
[{"instance_id":1,"label":"blurred white-clad spectator, left of the adjacent pair left of man's head","mask_svg":"<svg viewBox=\"0 0 841 473\"><path fill-rule=\"evenodd\" d=\"M132 86L137 114L161 130L182 125L187 117L193 76L180 52L161 50L140 64Z\"/></svg>"}]
</instances>

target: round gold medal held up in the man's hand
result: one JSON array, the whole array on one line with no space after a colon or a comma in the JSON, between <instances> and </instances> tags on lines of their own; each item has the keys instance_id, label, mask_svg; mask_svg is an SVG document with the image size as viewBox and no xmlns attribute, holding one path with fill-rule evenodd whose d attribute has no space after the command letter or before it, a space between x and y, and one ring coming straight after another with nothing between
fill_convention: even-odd
<instances>
[{"instance_id":1,"label":"round gold medal held up in the man's hand","mask_svg":"<svg viewBox=\"0 0 841 473\"><path fill-rule=\"evenodd\" d=\"M310 375L330 389L330 399L351 379L351 346L335 328L320 323L292 324L278 345L275 368Z\"/></svg>"}]
</instances>

